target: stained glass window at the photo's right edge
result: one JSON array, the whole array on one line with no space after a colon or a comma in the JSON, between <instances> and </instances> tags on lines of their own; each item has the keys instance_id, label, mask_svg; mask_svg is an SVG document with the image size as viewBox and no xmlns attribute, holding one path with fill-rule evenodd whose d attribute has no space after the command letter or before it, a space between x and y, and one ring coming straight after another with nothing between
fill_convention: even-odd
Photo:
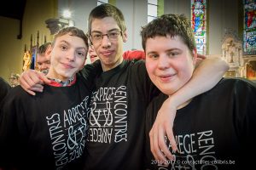
<instances>
[{"instance_id":1,"label":"stained glass window at the photo's right edge","mask_svg":"<svg viewBox=\"0 0 256 170\"><path fill-rule=\"evenodd\" d=\"M256 0L244 0L244 54L256 54Z\"/></svg>"}]
</instances>

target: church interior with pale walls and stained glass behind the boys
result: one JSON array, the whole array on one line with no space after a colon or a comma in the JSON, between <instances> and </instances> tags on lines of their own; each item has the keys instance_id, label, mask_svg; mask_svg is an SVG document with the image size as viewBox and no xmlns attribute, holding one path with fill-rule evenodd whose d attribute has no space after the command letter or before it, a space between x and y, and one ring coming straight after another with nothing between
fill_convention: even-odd
<instances>
[{"instance_id":1,"label":"church interior with pale walls and stained glass behind the boys","mask_svg":"<svg viewBox=\"0 0 256 170\"><path fill-rule=\"evenodd\" d=\"M90 10L111 3L125 15L124 51L142 49L140 30L161 14L185 14L197 51L230 65L224 77L256 82L256 0L9 0L0 8L0 77L12 85L26 69L37 69L37 49L64 26L87 31ZM65 15L67 14L67 15ZM90 60L87 59L87 63Z\"/></svg>"}]
</instances>

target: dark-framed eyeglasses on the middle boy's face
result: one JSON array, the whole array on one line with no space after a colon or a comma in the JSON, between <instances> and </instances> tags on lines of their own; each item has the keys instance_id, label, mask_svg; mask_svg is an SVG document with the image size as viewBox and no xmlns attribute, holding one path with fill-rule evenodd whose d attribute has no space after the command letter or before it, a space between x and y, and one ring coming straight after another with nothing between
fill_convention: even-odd
<instances>
[{"instance_id":1,"label":"dark-framed eyeglasses on the middle boy's face","mask_svg":"<svg viewBox=\"0 0 256 170\"><path fill-rule=\"evenodd\" d=\"M119 35L122 34L122 31L110 31L107 34L102 34L100 32L92 32L90 38L92 42L102 42L104 36L107 36L110 41L116 41L119 38Z\"/></svg>"}]
</instances>

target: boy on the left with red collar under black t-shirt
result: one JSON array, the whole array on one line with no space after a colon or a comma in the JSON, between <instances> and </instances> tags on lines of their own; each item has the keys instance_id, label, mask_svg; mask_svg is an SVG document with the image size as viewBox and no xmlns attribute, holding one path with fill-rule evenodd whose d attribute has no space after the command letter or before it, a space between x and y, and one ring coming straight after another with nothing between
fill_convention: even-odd
<instances>
[{"instance_id":1,"label":"boy on the left with red collar under black t-shirt","mask_svg":"<svg viewBox=\"0 0 256 170\"><path fill-rule=\"evenodd\" d=\"M86 143L92 79L76 74L84 67L88 39L66 27L50 47L51 65L44 92L32 96L20 86L3 100L0 115L0 167L3 169L79 169Z\"/></svg>"}]
</instances>

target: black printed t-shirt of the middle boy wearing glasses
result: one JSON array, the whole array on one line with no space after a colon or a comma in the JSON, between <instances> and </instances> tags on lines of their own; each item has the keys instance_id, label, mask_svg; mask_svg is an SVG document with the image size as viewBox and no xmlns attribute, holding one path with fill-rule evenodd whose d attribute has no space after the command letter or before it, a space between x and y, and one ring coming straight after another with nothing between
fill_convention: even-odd
<instances>
[{"instance_id":1,"label":"black printed t-shirt of the middle boy wearing glasses","mask_svg":"<svg viewBox=\"0 0 256 170\"><path fill-rule=\"evenodd\" d=\"M145 112L156 94L143 60L124 60L96 77L84 170L143 168Z\"/></svg>"}]
</instances>

